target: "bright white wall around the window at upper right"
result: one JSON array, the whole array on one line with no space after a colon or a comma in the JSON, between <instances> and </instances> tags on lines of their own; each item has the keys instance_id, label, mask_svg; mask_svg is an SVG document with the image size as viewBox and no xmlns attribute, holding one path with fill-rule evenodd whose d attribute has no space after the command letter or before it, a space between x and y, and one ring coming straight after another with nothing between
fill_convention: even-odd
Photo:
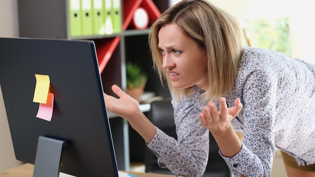
<instances>
[{"instance_id":1,"label":"bright white wall around the window at upper right","mask_svg":"<svg viewBox=\"0 0 315 177\"><path fill-rule=\"evenodd\" d=\"M209 0L221 9L238 18L289 17L292 57L315 63L313 41L315 25L311 1L287 0Z\"/></svg>"}]
</instances>

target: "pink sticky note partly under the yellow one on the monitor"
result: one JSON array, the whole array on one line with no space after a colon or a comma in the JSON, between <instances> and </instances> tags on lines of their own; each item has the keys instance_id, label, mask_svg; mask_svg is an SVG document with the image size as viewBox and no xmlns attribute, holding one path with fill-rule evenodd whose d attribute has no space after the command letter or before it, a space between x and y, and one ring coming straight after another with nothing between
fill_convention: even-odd
<instances>
[{"instance_id":1,"label":"pink sticky note partly under the yellow one on the monitor","mask_svg":"<svg viewBox=\"0 0 315 177\"><path fill-rule=\"evenodd\" d=\"M40 119L44 119L46 121L51 121L53 102L54 102L54 95L52 93L48 93L47 102L46 104L44 103L39 104L36 117Z\"/></svg>"}]
</instances>

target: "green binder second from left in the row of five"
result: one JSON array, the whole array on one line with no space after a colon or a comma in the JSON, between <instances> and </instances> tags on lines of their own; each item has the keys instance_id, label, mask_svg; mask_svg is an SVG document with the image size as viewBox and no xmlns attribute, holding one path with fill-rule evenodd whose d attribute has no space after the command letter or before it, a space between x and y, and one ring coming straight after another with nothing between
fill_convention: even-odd
<instances>
[{"instance_id":1,"label":"green binder second from left in the row of five","mask_svg":"<svg viewBox=\"0 0 315 177\"><path fill-rule=\"evenodd\" d=\"M92 0L81 0L82 34L93 35Z\"/></svg>"}]
</instances>

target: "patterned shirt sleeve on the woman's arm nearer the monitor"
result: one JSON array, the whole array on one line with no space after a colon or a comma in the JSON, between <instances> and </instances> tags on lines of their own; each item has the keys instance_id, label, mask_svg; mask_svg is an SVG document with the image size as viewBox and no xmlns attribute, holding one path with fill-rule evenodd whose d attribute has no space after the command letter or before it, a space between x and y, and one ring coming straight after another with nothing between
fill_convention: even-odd
<instances>
[{"instance_id":1,"label":"patterned shirt sleeve on the woman's arm nearer the monitor","mask_svg":"<svg viewBox=\"0 0 315 177\"><path fill-rule=\"evenodd\" d=\"M178 140L157 128L147 146L159 159L159 165L176 176L202 176L208 161L209 131L200 125L200 110L192 100L173 100L172 104Z\"/></svg>"}]
</instances>

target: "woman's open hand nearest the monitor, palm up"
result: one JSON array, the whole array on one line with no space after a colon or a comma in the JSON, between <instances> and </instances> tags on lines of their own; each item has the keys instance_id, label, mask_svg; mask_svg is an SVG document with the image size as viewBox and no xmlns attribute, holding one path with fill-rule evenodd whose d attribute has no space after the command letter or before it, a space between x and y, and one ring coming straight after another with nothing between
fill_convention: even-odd
<instances>
[{"instance_id":1,"label":"woman's open hand nearest the monitor, palm up","mask_svg":"<svg viewBox=\"0 0 315 177\"><path fill-rule=\"evenodd\" d=\"M112 91L119 97L118 99L104 93L105 105L108 111L117 114L119 117L132 121L133 116L141 113L139 103L125 94L117 85L112 86Z\"/></svg>"}]
</instances>

